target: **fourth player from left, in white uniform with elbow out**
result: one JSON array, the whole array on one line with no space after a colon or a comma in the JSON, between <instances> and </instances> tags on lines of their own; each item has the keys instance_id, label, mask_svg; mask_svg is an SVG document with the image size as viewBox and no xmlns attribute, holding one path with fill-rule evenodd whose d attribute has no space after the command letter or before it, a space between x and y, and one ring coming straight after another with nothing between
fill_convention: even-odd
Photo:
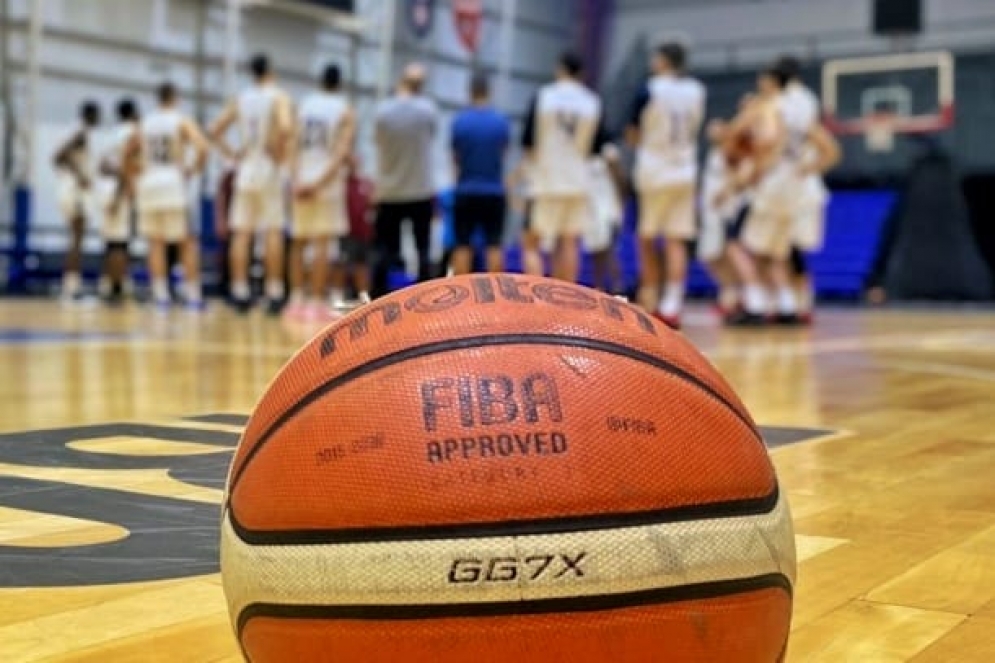
<instances>
[{"instance_id":1,"label":"fourth player from left, in white uniform with elbow out","mask_svg":"<svg viewBox=\"0 0 995 663\"><path fill-rule=\"evenodd\" d=\"M256 231L266 237L265 295L272 315L283 305L282 168L293 131L290 98L276 84L269 58L256 55L249 62L254 83L228 103L210 130L225 157L237 161L235 196L229 218L231 297L236 310L252 306L249 265ZM240 144L233 150L224 136L236 124Z\"/></svg>"}]
</instances>

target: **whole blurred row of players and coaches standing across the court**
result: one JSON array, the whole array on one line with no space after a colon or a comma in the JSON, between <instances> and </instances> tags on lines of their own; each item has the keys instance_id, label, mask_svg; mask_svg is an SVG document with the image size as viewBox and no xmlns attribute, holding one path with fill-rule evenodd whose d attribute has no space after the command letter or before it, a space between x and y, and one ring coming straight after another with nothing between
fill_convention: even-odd
<instances>
[{"instance_id":1,"label":"whole blurred row of players and coaches standing across the court","mask_svg":"<svg viewBox=\"0 0 995 663\"><path fill-rule=\"evenodd\" d=\"M679 328L692 247L719 285L719 308L732 325L803 323L810 319L811 283L804 253L820 247L826 189L821 176L840 158L839 146L818 120L818 102L799 80L799 66L781 58L758 77L757 90L728 120L713 120L710 145L699 169L699 136L706 90L685 73L682 46L665 44L652 56L651 75L627 118L624 141L634 150L630 176L622 145L605 130L602 101L580 79L581 62L564 55L555 80L542 87L526 113L523 156L504 177L507 120L489 106L486 79L470 85L471 106L452 127L456 171L454 239L441 269L428 259L435 203L432 144L434 103L422 90L424 70L409 66L396 95L378 108L374 137L378 154L376 266L372 282L354 274L360 300L387 290L388 271L400 257L400 228L410 221L419 253L419 280L472 269L474 238L487 248L485 267L504 267L502 236L506 200L524 217L522 269L576 281L581 250L592 255L595 286L622 289L612 260L613 243L627 190L637 200L640 306ZM183 256L179 298L203 306L199 242L188 219L188 182L199 174L213 146L230 164L227 210L230 297L239 311L253 305L249 273L252 247L263 238L263 297L271 313L322 317L343 297L343 274L329 276L330 252L366 262L365 246L350 249L347 176L356 170L357 118L341 90L338 67L323 72L319 89L295 106L275 83L265 56L250 62L249 86L205 132L177 108L169 84L158 108L139 117L124 101L120 125L100 164L100 200L107 245L101 288L125 287L128 229L132 214L149 245L152 300L169 306L167 247ZM81 201L90 187L87 129L99 121L84 105L83 128L59 151L60 202L73 241L63 290L79 292ZM239 142L229 144L237 127ZM289 271L284 278L285 200L289 191ZM549 268L544 256L550 258ZM285 283L289 283L289 293Z\"/></svg>"}]
</instances>

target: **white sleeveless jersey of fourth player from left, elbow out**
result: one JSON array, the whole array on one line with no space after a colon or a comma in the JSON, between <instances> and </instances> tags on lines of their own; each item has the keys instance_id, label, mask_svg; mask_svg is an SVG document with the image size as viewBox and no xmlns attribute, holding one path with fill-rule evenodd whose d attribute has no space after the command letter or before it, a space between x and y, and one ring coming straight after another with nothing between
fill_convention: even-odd
<instances>
[{"instance_id":1,"label":"white sleeveless jersey of fourth player from left, elbow out","mask_svg":"<svg viewBox=\"0 0 995 663\"><path fill-rule=\"evenodd\" d=\"M279 169L272 152L276 137L277 104L284 93L275 85L256 85L236 100L242 160L235 188L258 191L279 185Z\"/></svg>"}]
</instances>

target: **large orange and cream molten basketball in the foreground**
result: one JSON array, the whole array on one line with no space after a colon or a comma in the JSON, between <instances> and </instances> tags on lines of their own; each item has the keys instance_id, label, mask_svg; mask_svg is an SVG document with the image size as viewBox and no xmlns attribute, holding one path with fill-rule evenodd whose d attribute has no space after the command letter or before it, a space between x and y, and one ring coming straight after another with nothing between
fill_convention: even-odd
<instances>
[{"instance_id":1,"label":"large orange and cream molten basketball in the foreground","mask_svg":"<svg viewBox=\"0 0 995 663\"><path fill-rule=\"evenodd\" d=\"M795 552L756 426L690 343L492 274L378 299L284 366L221 567L255 663L772 662Z\"/></svg>"}]
</instances>

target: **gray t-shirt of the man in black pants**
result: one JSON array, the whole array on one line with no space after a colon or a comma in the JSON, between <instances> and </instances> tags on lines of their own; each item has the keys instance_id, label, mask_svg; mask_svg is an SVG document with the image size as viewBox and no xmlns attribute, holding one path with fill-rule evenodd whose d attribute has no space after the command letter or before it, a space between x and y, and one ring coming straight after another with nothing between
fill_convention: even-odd
<instances>
[{"instance_id":1,"label":"gray t-shirt of the man in black pants","mask_svg":"<svg viewBox=\"0 0 995 663\"><path fill-rule=\"evenodd\" d=\"M377 107L377 200L403 203L435 196L432 143L438 111L422 96L392 97Z\"/></svg>"}]
</instances>

